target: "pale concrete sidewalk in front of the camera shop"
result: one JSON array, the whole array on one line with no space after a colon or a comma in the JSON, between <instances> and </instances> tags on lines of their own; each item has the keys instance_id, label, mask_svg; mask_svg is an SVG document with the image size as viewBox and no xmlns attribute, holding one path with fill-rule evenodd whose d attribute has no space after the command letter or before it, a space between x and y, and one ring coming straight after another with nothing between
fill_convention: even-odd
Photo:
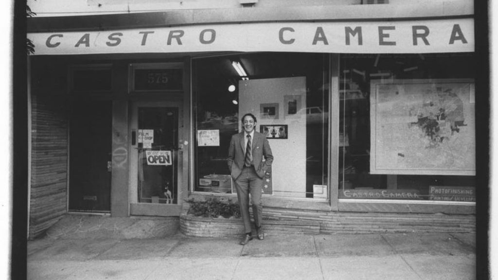
<instances>
[{"instance_id":1,"label":"pale concrete sidewalk in front of the camera shop","mask_svg":"<svg viewBox=\"0 0 498 280\"><path fill-rule=\"evenodd\" d=\"M266 235L28 242L30 280L470 280L475 234Z\"/></svg>"}]
</instances>

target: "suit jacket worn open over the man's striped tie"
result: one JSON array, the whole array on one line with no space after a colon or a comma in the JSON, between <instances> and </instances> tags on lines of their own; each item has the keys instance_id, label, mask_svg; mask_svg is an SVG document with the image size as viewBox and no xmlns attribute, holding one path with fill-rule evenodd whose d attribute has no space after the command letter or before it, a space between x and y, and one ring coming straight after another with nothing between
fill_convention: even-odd
<instances>
[{"instance_id":1,"label":"suit jacket worn open over the man's striped tie","mask_svg":"<svg viewBox=\"0 0 498 280\"><path fill-rule=\"evenodd\" d=\"M244 167L244 158L246 156L244 131L232 136L230 140L230 147L228 150L228 168L230 168L231 175L237 179ZM263 161L263 158L265 161ZM269 169L273 155L271 154L270 144L266 137L258 132L254 132L252 139L252 163L254 169L260 178L264 177L264 172Z\"/></svg>"}]
</instances>

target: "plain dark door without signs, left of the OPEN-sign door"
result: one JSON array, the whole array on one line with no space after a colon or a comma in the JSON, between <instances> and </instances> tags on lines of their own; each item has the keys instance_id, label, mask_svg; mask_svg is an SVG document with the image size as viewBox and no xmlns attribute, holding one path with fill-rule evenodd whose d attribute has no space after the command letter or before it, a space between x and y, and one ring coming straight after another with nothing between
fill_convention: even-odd
<instances>
[{"instance_id":1,"label":"plain dark door without signs, left of the OPEN-sign door","mask_svg":"<svg viewBox=\"0 0 498 280\"><path fill-rule=\"evenodd\" d=\"M111 211L112 104L78 100L69 127L69 211Z\"/></svg>"}]
</instances>

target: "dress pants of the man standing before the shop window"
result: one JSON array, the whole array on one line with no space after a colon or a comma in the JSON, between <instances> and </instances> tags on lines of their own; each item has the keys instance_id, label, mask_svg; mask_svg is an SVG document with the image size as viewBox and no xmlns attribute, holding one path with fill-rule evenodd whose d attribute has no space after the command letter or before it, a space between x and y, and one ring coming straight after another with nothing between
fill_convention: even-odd
<instances>
[{"instance_id":1,"label":"dress pants of the man standing before the shop window","mask_svg":"<svg viewBox=\"0 0 498 280\"><path fill-rule=\"evenodd\" d=\"M249 193L252 200L252 215L256 228L261 226L263 204L261 202L261 192L263 187L263 179L261 179L254 170L254 166L242 169L241 174L235 180L237 189L237 198L241 207L241 216L244 222L246 233L251 232L250 217L249 217Z\"/></svg>"}]
</instances>

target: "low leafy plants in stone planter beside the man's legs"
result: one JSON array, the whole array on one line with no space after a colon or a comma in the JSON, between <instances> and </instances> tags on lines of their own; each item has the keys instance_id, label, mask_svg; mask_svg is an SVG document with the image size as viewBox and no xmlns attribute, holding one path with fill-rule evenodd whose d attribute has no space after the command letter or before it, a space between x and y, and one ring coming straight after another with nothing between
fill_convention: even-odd
<instances>
[{"instance_id":1,"label":"low leafy plants in stone planter beside the man's legs","mask_svg":"<svg viewBox=\"0 0 498 280\"><path fill-rule=\"evenodd\" d=\"M238 203L221 201L216 197L210 197L203 201L195 201L193 198L186 200L190 203L189 215L207 218L240 218L241 210Z\"/></svg>"}]
</instances>

